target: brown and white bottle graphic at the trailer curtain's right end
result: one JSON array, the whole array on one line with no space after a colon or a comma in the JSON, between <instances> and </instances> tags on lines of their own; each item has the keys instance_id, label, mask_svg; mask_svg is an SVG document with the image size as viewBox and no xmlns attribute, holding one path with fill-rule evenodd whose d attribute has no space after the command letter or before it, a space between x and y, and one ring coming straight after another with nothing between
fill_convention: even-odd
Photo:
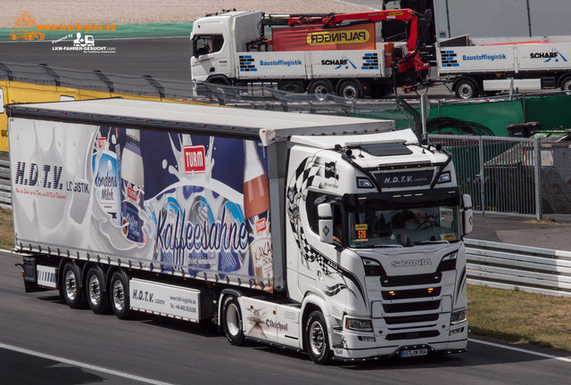
<instances>
[{"instance_id":1,"label":"brown and white bottle graphic at the trailer curtain's right end","mask_svg":"<svg viewBox=\"0 0 571 385\"><path fill-rule=\"evenodd\" d=\"M244 141L244 217L250 264L256 284L273 290L273 258L269 234L269 186L256 143ZM263 281L262 281L263 280Z\"/></svg>"}]
</instances>

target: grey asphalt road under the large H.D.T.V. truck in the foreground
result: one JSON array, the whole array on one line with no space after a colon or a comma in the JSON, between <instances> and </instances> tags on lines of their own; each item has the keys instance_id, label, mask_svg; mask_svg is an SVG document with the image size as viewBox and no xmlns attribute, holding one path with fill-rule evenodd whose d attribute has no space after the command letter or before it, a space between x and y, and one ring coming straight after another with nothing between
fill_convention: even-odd
<instances>
[{"instance_id":1,"label":"grey asphalt road under the large H.D.T.V. truck in the foreground","mask_svg":"<svg viewBox=\"0 0 571 385\"><path fill-rule=\"evenodd\" d=\"M120 321L72 310L54 291L25 294L19 261L0 252L2 384L567 384L571 373L571 356L475 339L461 355L314 365L302 353L231 346L194 324L146 315Z\"/></svg>"}]
</instances>

